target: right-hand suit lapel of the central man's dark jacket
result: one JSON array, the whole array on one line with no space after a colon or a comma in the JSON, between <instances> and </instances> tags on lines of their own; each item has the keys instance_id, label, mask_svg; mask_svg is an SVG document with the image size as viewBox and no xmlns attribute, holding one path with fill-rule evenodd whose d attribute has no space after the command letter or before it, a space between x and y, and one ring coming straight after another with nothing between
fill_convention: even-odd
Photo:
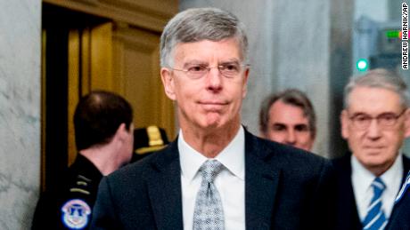
<instances>
[{"instance_id":1,"label":"right-hand suit lapel of the central man's dark jacket","mask_svg":"<svg viewBox=\"0 0 410 230\"><path fill-rule=\"evenodd\" d=\"M245 132L246 229L270 229L281 171L264 160L272 152Z\"/></svg>"}]
</instances>

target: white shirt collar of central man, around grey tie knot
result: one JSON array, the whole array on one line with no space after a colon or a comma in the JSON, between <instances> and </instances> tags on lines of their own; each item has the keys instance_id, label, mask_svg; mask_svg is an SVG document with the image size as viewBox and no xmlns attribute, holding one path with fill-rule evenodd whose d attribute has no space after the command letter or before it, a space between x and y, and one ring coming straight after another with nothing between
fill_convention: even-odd
<instances>
[{"instance_id":1,"label":"white shirt collar of central man, around grey tie knot","mask_svg":"<svg viewBox=\"0 0 410 230\"><path fill-rule=\"evenodd\" d=\"M208 160L184 140L182 131L178 134L179 160L183 177L193 180L202 163ZM241 126L234 139L215 157L234 176L245 179L245 132Z\"/></svg>"}]
</instances>

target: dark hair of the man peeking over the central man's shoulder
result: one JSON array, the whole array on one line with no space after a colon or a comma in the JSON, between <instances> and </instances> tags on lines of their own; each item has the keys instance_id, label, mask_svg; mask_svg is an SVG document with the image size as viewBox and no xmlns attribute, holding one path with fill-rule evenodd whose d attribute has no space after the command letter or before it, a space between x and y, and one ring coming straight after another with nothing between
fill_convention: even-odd
<instances>
[{"instance_id":1,"label":"dark hair of the man peeking over the central man's shoulder","mask_svg":"<svg viewBox=\"0 0 410 230\"><path fill-rule=\"evenodd\" d=\"M312 103L307 98L307 95L303 91L297 89L288 89L273 93L266 97L262 102L259 110L259 130L262 133L267 131L267 123L269 122L269 109L277 100L283 101L284 104L300 107L303 110L303 114L307 116L309 123L309 129L312 133L312 137L316 137L316 114Z\"/></svg>"}]
</instances>

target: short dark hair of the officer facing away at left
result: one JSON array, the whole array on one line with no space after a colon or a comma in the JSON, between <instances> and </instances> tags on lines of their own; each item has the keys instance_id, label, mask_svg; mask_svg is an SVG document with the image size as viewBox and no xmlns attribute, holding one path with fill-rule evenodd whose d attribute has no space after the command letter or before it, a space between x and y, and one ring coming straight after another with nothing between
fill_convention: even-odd
<instances>
[{"instance_id":1,"label":"short dark hair of the officer facing away at left","mask_svg":"<svg viewBox=\"0 0 410 230\"><path fill-rule=\"evenodd\" d=\"M129 131L133 110L126 99L109 91L92 91L81 98L74 113L77 149L109 143L121 123Z\"/></svg>"}]
</instances>

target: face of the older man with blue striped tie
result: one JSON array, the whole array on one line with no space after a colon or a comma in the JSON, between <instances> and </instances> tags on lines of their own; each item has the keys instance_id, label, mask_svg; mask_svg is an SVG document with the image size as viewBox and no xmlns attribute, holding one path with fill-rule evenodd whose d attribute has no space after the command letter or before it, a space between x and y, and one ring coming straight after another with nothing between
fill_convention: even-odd
<instances>
[{"instance_id":1,"label":"face of the older man with blue striped tie","mask_svg":"<svg viewBox=\"0 0 410 230\"><path fill-rule=\"evenodd\" d=\"M394 125L381 124L381 117L395 120L398 115ZM379 119L371 119L375 117ZM348 108L341 114L342 136L366 169L382 173L394 163L403 139L409 134L408 117L408 110L405 112L398 93L382 88L357 87L351 91ZM370 120L368 127L359 127L357 123L365 119Z\"/></svg>"}]
</instances>

